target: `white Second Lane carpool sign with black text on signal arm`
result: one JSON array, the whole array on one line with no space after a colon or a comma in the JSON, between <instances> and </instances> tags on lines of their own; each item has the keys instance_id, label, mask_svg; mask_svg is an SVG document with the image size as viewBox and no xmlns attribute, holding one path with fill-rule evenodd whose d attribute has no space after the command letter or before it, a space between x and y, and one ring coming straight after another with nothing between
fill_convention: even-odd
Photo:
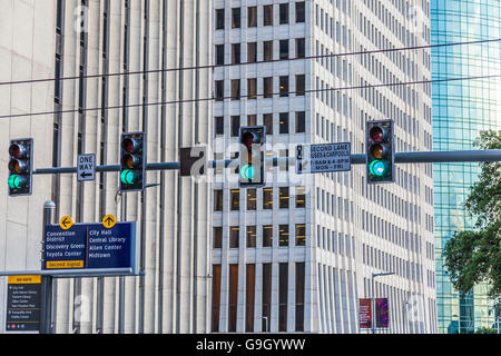
<instances>
[{"instance_id":1,"label":"white Second Lane carpool sign with black text on signal arm","mask_svg":"<svg viewBox=\"0 0 501 356\"><path fill-rule=\"evenodd\" d=\"M350 142L297 145L296 174L350 171L352 169Z\"/></svg>"}]
</instances>

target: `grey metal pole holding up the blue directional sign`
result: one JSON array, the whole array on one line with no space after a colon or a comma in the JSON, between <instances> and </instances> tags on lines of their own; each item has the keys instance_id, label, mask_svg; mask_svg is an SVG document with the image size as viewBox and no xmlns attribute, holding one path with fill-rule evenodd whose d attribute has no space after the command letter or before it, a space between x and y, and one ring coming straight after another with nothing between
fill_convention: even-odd
<instances>
[{"instance_id":1,"label":"grey metal pole holding up the blue directional sign","mask_svg":"<svg viewBox=\"0 0 501 356\"><path fill-rule=\"evenodd\" d=\"M52 224L56 202L49 200L43 204L42 240L46 239L46 226ZM43 251L41 256L41 268L43 269ZM52 334L52 281L53 277L41 276L42 280L42 313L40 323L40 334Z\"/></svg>"}]
</instances>

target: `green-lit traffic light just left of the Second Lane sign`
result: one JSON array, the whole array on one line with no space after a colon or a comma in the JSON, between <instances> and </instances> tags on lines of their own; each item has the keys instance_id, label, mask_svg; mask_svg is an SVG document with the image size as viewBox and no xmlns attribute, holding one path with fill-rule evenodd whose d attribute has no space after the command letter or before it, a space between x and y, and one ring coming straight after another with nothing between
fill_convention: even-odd
<instances>
[{"instance_id":1,"label":"green-lit traffic light just left of the Second Lane sign","mask_svg":"<svg viewBox=\"0 0 501 356\"><path fill-rule=\"evenodd\" d=\"M265 186L266 128L264 126L240 127L239 186Z\"/></svg>"}]
</instances>

